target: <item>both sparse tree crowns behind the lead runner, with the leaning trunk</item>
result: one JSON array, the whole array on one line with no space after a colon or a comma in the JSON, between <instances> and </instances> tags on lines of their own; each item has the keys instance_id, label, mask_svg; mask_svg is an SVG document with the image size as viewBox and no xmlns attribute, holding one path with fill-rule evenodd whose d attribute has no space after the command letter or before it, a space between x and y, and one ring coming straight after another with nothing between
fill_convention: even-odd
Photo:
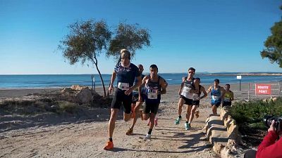
<instances>
[{"instance_id":1,"label":"both sparse tree crowns behind the lead runner, with the leaning trunk","mask_svg":"<svg viewBox=\"0 0 282 158\"><path fill-rule=\"evenodd\" d=\"M59 45L59 49L63 51L63 57L71 65L78 62L82 65L87 61L92 62L102 81L104 96L106 96L106 89L99 71L97 57L105 52L107 57L114 56L118 59L123 48L127 48L134 56L137 49L150 46L149 31L137 24L120 23L113 33L104 20L97 22L87 20L75 22L69 25L69 29L69 34L60 41L61 45ZM115 35L113 38L112 34Z\"/></svg>"}]
</instances>

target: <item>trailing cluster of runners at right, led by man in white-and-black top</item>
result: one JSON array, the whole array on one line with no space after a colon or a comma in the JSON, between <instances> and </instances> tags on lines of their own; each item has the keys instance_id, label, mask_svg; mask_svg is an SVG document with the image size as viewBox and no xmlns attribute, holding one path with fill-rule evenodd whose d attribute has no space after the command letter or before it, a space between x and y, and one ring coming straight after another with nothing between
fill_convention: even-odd
<instances>
[{"instance_id":1,"label":"trailing cluster of runners at right, led by man in white-and-black top","mask_svg":"<svg viewBox=\"0 0 282 158\"><path fill-rule=\"evenodd\" d=\"M200 78L194 78L196 70L193 67L188 69L188 77L183 77L180 89L178 91L180 98L178 101L178 117L176 118L175 124L180 124L182 119L182 108L183 105L186 107L186 121L185 129L191 128L191 122L194 116L199 117L199 111L197 108L200 105L200 100L207 97L208 93L211 93L211 106L213 114L216 114L217 107L231 105L231 101L234 100L233 92L230 90L230 84L226 84L226 89L219 86L219 79L214 79L214 85L209 86L208 90L205 91L204 86L200 85ZM204 94L201 96L201 94Z\"/></svg>"}]
</instances>

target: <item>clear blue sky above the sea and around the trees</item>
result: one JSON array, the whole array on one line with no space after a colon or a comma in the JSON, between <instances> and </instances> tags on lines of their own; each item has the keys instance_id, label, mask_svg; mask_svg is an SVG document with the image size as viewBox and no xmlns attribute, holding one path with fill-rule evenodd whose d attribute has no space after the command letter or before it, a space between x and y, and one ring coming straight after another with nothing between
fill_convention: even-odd
<instances>
[{"instance_id":1,"label":"clear blue sky above the sea and around the trees","mask_svg":"<svg viewBox=\"0 0 282 158\"><path fill-rule=\"evenodd\" d=\"M138 23L150 30L151 45L132 62L145 72L282 72L259 51L270 27L281 20L282 1L37 1L0 0L0 74L97 74L90 65L69 65L57 50L78 20L104 19ZM114 70L113 58L99 56L103 74Z\"/></svg>"}]
</instances>

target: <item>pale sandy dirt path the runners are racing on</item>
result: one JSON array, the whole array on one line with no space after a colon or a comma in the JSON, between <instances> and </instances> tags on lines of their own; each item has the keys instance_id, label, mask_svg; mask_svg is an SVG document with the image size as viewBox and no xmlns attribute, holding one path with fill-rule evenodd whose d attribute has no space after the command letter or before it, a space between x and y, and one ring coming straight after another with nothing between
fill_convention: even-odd
<instances>
[{"instance_id":1,"label":"pale sandy dirt path the runners are racing on","mask_svg":"<svg viewBox=\"0 0 282 158\"><path fill-rule=\"evenodd\" d=\"M133 136L125 135L131 122L116 122L112 151L103 150L106 120L35 126L0 133L0 157L216 157L202 134L210 109L201 109L192 129L185 131L184 121L174 124L175 106L166 101L160 105L159 126L151 140L144 139L148 126L140 119Z\"/></svg>"}]
</instances>

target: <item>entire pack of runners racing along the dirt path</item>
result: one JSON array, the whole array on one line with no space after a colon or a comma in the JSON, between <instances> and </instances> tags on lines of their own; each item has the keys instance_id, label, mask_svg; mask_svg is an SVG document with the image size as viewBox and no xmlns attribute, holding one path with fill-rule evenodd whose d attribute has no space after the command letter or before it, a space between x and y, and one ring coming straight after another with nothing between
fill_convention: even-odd
<instances>
[{"instance_id":1,"label":"entire pack of runners racing along the dirt path","mask_svg":"<svg viewBox=\"0 0 282 158\"><path fill-rule=\"evenodd\" d=\"M111 150L114 148L113 133L115 129L115 122L118 116L118 111L123 105L123 119L129 121L133 119L133 124L126 132L126 135L133 134L133 128L140 116L140 107L143 105L141 118L148 120L149 131L145 139L151 138L152 130L157 125L156 115L159 110L159 103L161 94L166 93L168 86L166 80L159 76L157 65L149 67L149 74L145 76L142 74L144 67L142 65L134 65L130 62L130 52L126 49L121 50L121 62L116 65L111 76L111 83L109 86L109 93L114 91L114 81L117 78L117 86L114 92L114 98L111 103L111 117L109 119L109 141L106 143L104 150ZM195 69L190 67L188 69L188 77L183 77L182 84L178 91L180 99L178 102L178 118L175 124L180 124L182 119L183 104L186 104L186 121L185 129L189 130L194 115L198 117L196 112L200 105L200 100L207 97L207 93L212 95L212 112L216 114L216 108L221 105L231 105L233 100L233 92L229 90L230 85L226 84L226 90L219 86L219 79L214 79L214 86L210 86L205 91L204 86L200 85L200 78L194 78ZM201 94L204 93L203 96Z\"/></svg>"}]
</instances>

